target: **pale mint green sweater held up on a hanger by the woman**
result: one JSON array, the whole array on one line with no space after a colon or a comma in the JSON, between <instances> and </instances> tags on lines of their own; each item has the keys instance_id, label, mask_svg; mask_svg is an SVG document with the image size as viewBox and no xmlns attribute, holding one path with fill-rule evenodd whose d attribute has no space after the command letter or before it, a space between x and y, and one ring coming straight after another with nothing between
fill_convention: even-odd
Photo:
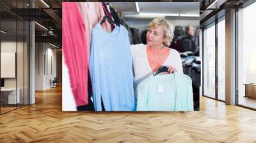
<instances>
[{"instance_id":1,"label":"pale mint green sweater held up on a hanger by the woman","mask_svg":"<svg viewBox=\"0 0 256 143\"><path fill-rule=\"evenodd\" d=\"M137 88L138 111L193 111L192 81L188 75L151 75Z\"/></svg>"}]
</instances>

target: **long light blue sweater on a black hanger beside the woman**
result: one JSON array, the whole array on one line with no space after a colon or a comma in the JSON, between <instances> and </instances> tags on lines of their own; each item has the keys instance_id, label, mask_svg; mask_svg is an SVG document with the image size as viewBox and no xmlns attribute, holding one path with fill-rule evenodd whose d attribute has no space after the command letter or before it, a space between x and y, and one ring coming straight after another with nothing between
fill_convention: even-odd
<instances>
[{"instance_id":1,"label":"long light blue sweater on a black hanger beside the woman","mask_svg":"<svg viewBox=\"0 0 256 143\"><path fill-rule=\"evenodd\" d=\"M97 24L92 31L90 72L96 111L135 110L132 56L128 32L116 26L108 33Z\"/></svg>"}]
</instances>

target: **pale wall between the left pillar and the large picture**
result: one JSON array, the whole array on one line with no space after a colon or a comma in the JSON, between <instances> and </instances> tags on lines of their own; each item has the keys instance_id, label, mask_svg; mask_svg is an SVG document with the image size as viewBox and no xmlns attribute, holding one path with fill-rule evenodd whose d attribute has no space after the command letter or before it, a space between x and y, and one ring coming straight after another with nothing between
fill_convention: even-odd
<instances>
[{"instance_id":1,"label":"pale wall between the left pillar and the large picture","mask_svg":"<svg viewBox=\"0 0 256 143\"><path fill-rule=\"evenodd\" d=\"M56 77L56 49L49 43L36 43L35 76L36 90L51 88L50 79Z\"/></svg>"}]
</instances>

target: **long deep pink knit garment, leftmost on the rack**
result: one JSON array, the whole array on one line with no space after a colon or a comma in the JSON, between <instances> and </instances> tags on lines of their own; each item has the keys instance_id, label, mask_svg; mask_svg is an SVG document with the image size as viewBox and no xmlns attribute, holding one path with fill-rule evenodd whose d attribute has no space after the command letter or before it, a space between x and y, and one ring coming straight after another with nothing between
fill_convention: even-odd
<instances>
[{"instance_id":1,"label":"long deep pink knit garment, leftmost on the rack","mask_svg":"<svg viewBox=\"0 0 256 143\"><path fill-rule=\"evenodd\" d=\"M75 2L62 3L62 47L77 106L88 104L88 54L83 18Z\"/></svg>"}]
</instances>

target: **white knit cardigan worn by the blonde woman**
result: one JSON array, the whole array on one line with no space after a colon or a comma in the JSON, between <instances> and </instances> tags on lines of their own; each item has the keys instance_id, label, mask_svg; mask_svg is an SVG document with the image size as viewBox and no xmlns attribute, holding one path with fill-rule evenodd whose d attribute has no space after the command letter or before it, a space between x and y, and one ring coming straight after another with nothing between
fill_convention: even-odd
<instances>
[{"instance_id":1,"label":"white knit cardigan worn by the blonde woman","mask_svg":"<svg viewBox=\"0 0 256 143\"><path fill-rule=\"evenodd\" d=\"M131 45L131 53L134 71L134 91L135 97L137 97L136 88L138 84L152 75L153 71L148 61L147 45ZM175 49L171 49L163 66L173 66L173 68L177 69L177 72L183 73L179 52Z\"/></svg>"}]
</instances>

